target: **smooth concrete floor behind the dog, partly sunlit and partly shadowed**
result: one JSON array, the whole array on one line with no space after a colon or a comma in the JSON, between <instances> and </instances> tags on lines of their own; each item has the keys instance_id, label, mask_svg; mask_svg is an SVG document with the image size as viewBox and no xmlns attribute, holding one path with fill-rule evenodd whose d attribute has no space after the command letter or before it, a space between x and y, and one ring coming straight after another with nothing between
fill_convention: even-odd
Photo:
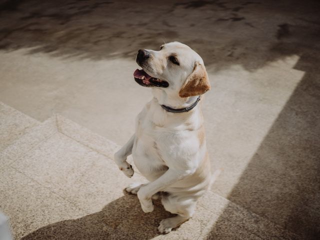
<instances>
[{"instance_id":1,"label":"smooth concrete floor behind the dog, partly sunlit and partly shadowed","mask_svg":"<svg viewBox=\"0 0 320 240\"><path fill-rule=\"evenodd\" d=\"M203 58L212 187L301 236L320 236L318 1L1 1L0 101L60 113L123 144L150 99L138 48L178 40Z\"/></svg>"}]
</instances>

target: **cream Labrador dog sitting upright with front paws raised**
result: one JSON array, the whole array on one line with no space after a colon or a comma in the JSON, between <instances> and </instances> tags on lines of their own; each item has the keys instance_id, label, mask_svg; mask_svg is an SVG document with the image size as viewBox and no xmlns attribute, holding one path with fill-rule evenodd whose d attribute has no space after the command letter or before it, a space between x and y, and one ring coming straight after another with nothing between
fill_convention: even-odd
<instances>
[{"instance_id":1,"label":"cream Labrador dog sitting upright with front paws raised","mask_svg":"<svg viewBox=\"0 0 320 240\"><path fill-rule=\"evenodd\" d=\"M136 62L142 69L134 71L134 80L150 87L153 98L137 115L135 133L114 161L131 177L134 170L126 157L132 154L149 182L125 190L137 194L144 212L153 210L152 199L160 195L164 209L176 214L158 226L159 232L168 233L193 215L197 199L210 185L200 108L210 83L202 58L180 42L165 43L158 51L139 49Z\"/></svg>"}]
</instances>

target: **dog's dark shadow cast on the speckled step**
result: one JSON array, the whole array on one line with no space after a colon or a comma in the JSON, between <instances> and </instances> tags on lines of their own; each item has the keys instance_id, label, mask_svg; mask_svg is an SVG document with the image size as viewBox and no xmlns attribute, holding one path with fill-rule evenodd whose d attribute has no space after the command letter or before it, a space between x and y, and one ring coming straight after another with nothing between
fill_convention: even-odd
<instances>
[{"instance_id":1,"label":"dog's dark shadow cast on the speckled step","mask_svg":"<svg viewBox=\"0 0 320 240\"><path fill-rule=\"evenodd\" d=\"M153 202L154 210L144 213L136 195L124 193L99 212L48 224L21 240L151 239L159 235L157 226L161 219L172 216L159 200Z\"/></svg>"}]
</instances>

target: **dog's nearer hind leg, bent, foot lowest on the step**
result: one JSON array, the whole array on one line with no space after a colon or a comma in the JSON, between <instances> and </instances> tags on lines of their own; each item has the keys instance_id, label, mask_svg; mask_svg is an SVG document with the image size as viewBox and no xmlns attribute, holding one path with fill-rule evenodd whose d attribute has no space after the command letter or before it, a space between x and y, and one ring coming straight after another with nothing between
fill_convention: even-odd
<instances>
[{"instance_id":1,"label":"dog's nearer hind leg, bent, foot lowest on the step","mask_svg":"<svg viewBox=\"0 0 320 240\"><path fill-rule=\"evenodd\" d=\"M176 216L168 217L160 221L158 226L159 232L168 233L193 215L196 201L194 199L183 199L183 197L169 194L162 196L161 203L165 210L177 214Z\"/></svg>"}]
</instances>

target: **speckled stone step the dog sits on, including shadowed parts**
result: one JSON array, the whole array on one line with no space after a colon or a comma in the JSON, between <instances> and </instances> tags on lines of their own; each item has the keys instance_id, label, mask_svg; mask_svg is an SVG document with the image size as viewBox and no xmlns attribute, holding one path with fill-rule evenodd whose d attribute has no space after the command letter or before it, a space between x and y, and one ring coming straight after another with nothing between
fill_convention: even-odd
<instances>
[{"instance_id":1,"label":"speckled stone step the dog sits on, including shadowed parts","mask_svg":"<svg viewBox=\"0 0 320 240\"><path fill-rule=\"evenodd\" d=\"M299 239L293 233L208 191L194 216L172 232L159 201L144 213L123 188L109 141L60 115L25 133L0 153L0 210L14 239Z\"/></svg>"}]
</instances>

